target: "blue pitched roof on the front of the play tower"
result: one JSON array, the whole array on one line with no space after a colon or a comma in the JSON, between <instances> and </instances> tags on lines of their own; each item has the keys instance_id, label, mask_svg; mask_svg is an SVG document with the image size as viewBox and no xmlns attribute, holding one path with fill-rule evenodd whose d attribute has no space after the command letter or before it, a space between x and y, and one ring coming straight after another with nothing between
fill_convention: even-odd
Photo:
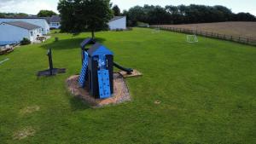
<instances>
[{"instance_id":1,"label":"blue pitched roof on the front of the play tower","mask_svg":"<svg viewBox=\"0 0 256 144\"><path fill-rule=\"evenodd\" d=\"M106 48L101 43L95 43L88 51L88 55L96 56L96 55L113 55L113 52Z\"/></svg>"}]
</instances>

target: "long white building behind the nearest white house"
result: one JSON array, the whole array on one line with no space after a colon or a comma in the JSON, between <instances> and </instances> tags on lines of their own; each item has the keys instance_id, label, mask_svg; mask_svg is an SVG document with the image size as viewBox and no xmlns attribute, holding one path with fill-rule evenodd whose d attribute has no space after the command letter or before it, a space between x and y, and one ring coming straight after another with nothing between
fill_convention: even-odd
<instances>
[{"instance_id":1,"label":"long white building behind the nearest white house","mask_svg":"<svg viewBox=\"0 0 256 144\"><path fill-rule=\"evenodd\" d=\"M26 17L26 18L1 18L0 23L10 21L23 21L32 25L40 26L43 34L49 33L49 24L44 18Z\"/></svg>"}]
</instances>

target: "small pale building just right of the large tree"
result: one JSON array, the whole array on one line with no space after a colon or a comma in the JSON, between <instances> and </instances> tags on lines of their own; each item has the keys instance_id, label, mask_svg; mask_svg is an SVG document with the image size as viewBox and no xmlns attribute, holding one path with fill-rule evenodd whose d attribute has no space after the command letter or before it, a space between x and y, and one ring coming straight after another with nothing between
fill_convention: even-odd
<instances>
[{"instance_id":1,"label":"small pale building just right of the large tree","mask_svg":"<svg viewBox=\"0 0 256 144\"><path fill-rule=\"evenodd\" d=\"M110 30L126 29L126 16L114 16L112 20L108 22Z\"/></svg>"}]
</instances>

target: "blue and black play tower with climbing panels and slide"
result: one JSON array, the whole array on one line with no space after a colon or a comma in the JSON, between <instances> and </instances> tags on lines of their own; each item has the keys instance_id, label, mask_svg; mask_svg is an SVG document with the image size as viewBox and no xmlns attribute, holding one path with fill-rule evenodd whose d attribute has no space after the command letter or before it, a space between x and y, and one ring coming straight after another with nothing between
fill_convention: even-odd
<instances>
[{"instance_id":1,"label":"blue and black play tower with climbing panels and slide","mask_svg":"<svg viewBox=\"0 0 256 144\"><path fill-rule=\"evenodd\" d=\"M90 49L86 48L91 45ZM119 66L113 62L113 52L96 43L92 38L84 39L80 44L82 52L82 69L79 86L88 87L91 96L96 99L106 99L113 94L113 66L131 73L131 68Z\"/></svg>"}]
</instances>

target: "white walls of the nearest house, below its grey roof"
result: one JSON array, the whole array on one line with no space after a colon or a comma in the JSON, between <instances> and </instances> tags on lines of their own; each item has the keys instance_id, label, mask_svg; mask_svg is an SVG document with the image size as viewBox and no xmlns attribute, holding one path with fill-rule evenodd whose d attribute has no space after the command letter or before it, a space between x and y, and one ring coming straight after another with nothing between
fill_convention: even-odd
<instances>
[{"instance_id":1,"label":"white walls of the nearest house, below its grey roof","mask_svg":"<svg viewBox=\"0 0 256 144\"><path fill-rule=\"evenodd\" d=\"M0 41L20 42L24 37L26 37L34 42L38 36L42 36L40 28L35 30L26 30L17 26L11 26L4 23L0 25Z\"/></svg>"}]
</instances>

